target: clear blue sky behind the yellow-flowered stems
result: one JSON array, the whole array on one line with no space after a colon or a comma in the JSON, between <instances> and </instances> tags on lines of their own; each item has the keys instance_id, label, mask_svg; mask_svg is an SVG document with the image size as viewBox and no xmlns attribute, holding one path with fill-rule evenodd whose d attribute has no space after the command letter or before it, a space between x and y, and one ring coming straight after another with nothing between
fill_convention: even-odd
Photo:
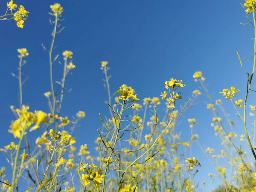
<instances>
[{"instance_id":1,"label":"clear blue sky behind the yellow-flowered stems","mask_svg":"<svg viewBox=\"0 0 256 192\"><path fill-rule=\"evenodd\" d=\"M56 2L17 0L15 3L22 4L30 13L24 29L18 29L15 21L0 21L0 146L14 140L7 129L15 118L9 107L18 105L18 82L11 76L11 73L17 74L17 48L26 47L29 51L28 63L23 67L24 76L29 76L23 86L23 104L29 104L32 110L48 110L43 93L50 90L49 62L41 43L49 47L52 31L48 20L49 5ZM81 127L74 132L78 145L87 143L92 151L93 141L98 137L96 129L101 127L99 112L103 116L108 115L104 104L108 95L100 70L100 61L103 60L109 61L111 67L112 93L120 85L127 84L134 88L141 100L160 96L160 92L165 90L164 81L173 77L186 84L182 90L183 103L198 88L192 75L201 70L214 100L225 101L218 92L230 86L239 88L242 92L239 96L244 99L247 77L241 70L235 51L239 51L242 58L253 55L253 27L239 24L246 23L247 19L238 0L61 0L58 3L64 7L65 20L61 25L66 28L56 37L58 48L54 54L71 50L77 67L66 81L66 87L73 90L64 96L62 114L71 117L79 110L86 112ZM2 15L5 7L6 3L1 3ZM251 62L244 63L244 66L251 71ZM55 63L53 70L54 79L59 80L61 66ZM252 89L256 89L254 84ZM256 105L250 103L252 98L253 93L249 104ZM190 130L186 119L194 117L198 121L196 129L200 143L216 148L219 141L216 141L210 127L211 116L204 101L207 98L201 96L199 104L184 114L183 123L177 131L188 138ZM230 103L225 102L225 107L232 114L232 120L239 122ZM159 107L159 111L162 108ZM243 133L239 123L236 129ZM40 130L31 133L30 137L35 139L39 134ZM198 175L201 176L198 176L198 181L201 181L213 169L209 166L212 171L208 171L207 158L200 152L196 153L196 149L193 151L202 166L207 167L199 170ZM1 163L4 163L3 157L0 154Z\"/></svg>"}]
</instances>

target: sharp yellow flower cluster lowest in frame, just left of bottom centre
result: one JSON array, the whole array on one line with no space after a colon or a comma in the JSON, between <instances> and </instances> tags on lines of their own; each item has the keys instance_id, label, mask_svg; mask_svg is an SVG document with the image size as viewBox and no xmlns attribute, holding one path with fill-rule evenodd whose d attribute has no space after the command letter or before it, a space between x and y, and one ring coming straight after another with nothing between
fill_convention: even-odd
<instances>
[{"instance_id":1,"label":"sharp yellow flower cluster lowest in frame, just left of bottom centre","mask_svg":"<svg viewBox=\"0 0 256 192\"><path fill-rule=\"evenodd\" d=\"M88 164L86 164L87 166ZM83 166L84 169L86 169L86 166ZM104 177L102 172L102 169L97 169L97 166L94 164L90 164L87 169L87 174L82 174L82 181L84 183L84 186L88 186L90 184L90 181L93 181L94 185L96 186L97 190L99 190L99 185L102 183Z\"/></svg>"}]
</instances>

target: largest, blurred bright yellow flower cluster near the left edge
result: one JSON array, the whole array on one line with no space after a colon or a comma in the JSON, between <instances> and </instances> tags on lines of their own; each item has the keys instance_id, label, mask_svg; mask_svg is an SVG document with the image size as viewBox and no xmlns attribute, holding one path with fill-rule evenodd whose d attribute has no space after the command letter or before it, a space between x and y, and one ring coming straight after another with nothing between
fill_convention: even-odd
<instances>
[{"instance_id":1,"label":"largest, blurred bright yellow flower cluster near the left edge","mask_svg":"<svg viewBox=\"0 0 256 192\"><path fill-rule=\"evenodd\" d=\"M43 122L49 123L46 121L48 115L43 111L35 111L35 113L28 112L29 107L26 105L23 105L21 110L15 109L13 106L11 108L19 117L16 121L12 122L9 129L9 132L12 133L14 137L20 138L22 131L26 131L28 128L30 128L30 131L33 131L38 129ZM31 128L33 123L35 123L35 126Z\"/></svg>"}]
</instances>

